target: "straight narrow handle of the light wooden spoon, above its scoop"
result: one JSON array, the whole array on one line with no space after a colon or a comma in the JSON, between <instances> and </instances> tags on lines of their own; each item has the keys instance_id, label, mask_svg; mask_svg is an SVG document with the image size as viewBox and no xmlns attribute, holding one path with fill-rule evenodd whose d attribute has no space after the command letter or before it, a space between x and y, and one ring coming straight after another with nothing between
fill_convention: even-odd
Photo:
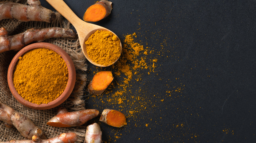
<instances>
[{"instance_id":1,"label":"straight narrow handle of the light wooden spoon, above its scoop","mask_svg":"<svg viewBox=\"0 0 256 143\"><path fill-rule=\"evenodd\" d=\"M63 0L46 0L55 10L64 16L73 26L82 21ZM75 24L75 25L74 25Z\"/></svg>"}]
</instances>

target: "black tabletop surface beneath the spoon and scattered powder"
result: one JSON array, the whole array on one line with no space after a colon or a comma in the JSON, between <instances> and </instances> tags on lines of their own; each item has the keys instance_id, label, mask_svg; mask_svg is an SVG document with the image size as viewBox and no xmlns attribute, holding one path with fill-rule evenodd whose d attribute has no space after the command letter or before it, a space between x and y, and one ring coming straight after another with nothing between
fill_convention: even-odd
<instances>
[{"instance_id":1,"label":"black tabletop surface beneath the spoon and scattered powder","mask_svg":"<svg viewBox=\"0 0 256 143\"><path fill-rule=\"evenodd\" d=\"M81 19L95 3L64 1ZM87 108L127 116L122 128L100 123L104 142L255 142L255 0L111 2L112 13L94 24L116 33L122 44L136 33L135 42L153 51L146 61L157 62L154 72L139 70L141 80L132 78L122 104L107 101L121 90L115 87L124 74L114 75L101 96L85 91ZM116 72L88 63L88 79L103 70ZM142 99L130 104L131 97Z\"/></svg>"}]
</instances>

